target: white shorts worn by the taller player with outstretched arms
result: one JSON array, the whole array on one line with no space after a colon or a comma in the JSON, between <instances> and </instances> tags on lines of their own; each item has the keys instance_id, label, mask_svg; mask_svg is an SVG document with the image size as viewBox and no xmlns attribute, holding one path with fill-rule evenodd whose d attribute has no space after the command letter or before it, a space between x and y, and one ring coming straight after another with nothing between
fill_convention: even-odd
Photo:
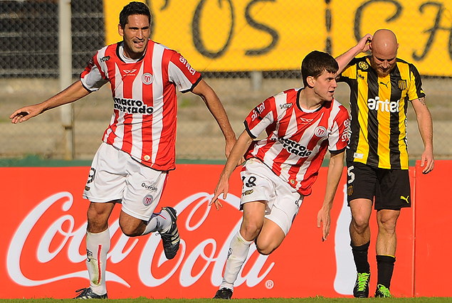
<instances>
[{"instance_id":1,"label":"white shorts worn by the taller player with outstretched arms","mask_svg":"<svg viewBox=\"0 0 452 303\"><path fill-rule=\"evenodd\" d=\"M83 198L91 202L121 201L122 211L140 220L154 213L168 177L103 142L96 152Z\"/></svg>"}]
</instances>

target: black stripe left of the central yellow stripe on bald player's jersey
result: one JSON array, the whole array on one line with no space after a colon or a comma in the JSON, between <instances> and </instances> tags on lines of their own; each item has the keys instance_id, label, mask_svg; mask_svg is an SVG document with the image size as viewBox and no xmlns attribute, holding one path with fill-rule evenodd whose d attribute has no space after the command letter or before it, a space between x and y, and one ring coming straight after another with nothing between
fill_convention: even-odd
<instances>
[{"instance_id":1,"label":"black stripe left of the central yellow stripe on bald player's jersey","mask_svg":"<svg viewBox=\"0 0 452 303\"><path fill-rule=\"evenodd\" d=\"M367 98L375 99L378 95L378 75L373 68L369 68L367 71ZM367 107L367 115L367 140L369 140L369 155L367 156L367 164L378 167L378 110L369 110L369 107Z\"/></svg>"}]
</instances>

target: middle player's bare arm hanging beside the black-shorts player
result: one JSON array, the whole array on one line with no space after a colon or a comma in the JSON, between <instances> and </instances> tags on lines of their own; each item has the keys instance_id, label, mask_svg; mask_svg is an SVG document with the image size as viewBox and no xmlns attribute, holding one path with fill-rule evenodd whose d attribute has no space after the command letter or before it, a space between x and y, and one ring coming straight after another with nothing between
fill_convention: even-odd
<instances>
[{"instance_id":1,"label":"middle player's bare arm hanging beside the black-shorts player","mask_svg":"<svg viewBox=\"0 0 452 303\"><path fill-rule=\"evenodd\" d=\"M328 164L325 199L323 200L322 208L320 208L320 211L317 213L317 228L322 227L322 241L327 240L327 237L330 234L330 212L332 201L335 199L337 186L339 185L340 176L344 169L344 154L344 151L339 154L331 154L330 164Z\"/></svg>"}]
</instances>

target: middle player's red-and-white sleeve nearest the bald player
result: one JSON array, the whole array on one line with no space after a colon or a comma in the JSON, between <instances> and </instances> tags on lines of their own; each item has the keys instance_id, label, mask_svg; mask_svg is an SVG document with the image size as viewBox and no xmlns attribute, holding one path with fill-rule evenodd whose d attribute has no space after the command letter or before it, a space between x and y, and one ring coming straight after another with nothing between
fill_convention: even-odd
<instances>
[{"instance_id":1,"label":"middle player's red-and-white sleeve nearest the bald player","mask_svg":"<svg viewBox=\"0 0 452 303\"><path fill-rule=\"evenodd\" d=\"M340 105L328 136L328 150L339 153L345 150L348 144L349 115L347 109Z\"/></svg>"}]
</instances>

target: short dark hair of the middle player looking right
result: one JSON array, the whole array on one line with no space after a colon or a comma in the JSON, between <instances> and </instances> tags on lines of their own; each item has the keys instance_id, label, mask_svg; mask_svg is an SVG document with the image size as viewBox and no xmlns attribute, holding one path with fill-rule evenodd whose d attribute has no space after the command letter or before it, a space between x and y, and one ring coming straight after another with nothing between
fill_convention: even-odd
<instances>
[{"instance_id":1,"label":"short dark hair of the middle player looking right","mask_svg":"<svg viewBox=\"0 0 452 303\"><path fill-rule=\"evenodd\" d=\"M323 53L318 50L313 50L308 53L301 63L301 77L303 78L303 84L308 86L308 77L319 78L324 71L335 74L339 70L339 65L335 58L329 53Z\"/></svg>"}]
</instances>

